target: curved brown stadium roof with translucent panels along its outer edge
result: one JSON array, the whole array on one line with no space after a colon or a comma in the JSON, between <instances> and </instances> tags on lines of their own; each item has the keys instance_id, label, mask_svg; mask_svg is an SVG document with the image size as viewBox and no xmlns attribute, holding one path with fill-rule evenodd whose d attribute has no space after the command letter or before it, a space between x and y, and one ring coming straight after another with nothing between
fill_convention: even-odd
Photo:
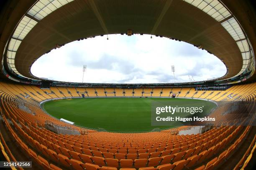
<instances>
[{"instance_id":1,"label":"curved brown stadium roof with translucent panels along its outer edge","mask_svg":"<svg viewBox=\"0 0 256 170\"><path fill-rule=\"evenodd\" d=\"M202 45L225 63L221 79L242 74L250 61L255 67L255 10L247 1L10 0L1 19L1 54L10 70L32 79L33 62L57 44L127 30Z\"/></svg>"}]
</instances>

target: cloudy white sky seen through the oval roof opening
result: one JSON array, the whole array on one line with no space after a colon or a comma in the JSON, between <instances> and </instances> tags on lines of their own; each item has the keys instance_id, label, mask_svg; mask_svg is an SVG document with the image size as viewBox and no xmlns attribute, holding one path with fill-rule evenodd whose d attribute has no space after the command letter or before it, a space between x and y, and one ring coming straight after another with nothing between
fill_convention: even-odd
<instances>
[{"instance_id":1,"label":"cloudy white sky seen through the oval roof opening","mask_svg":"<svg viewBox=\"0 0 256 170\"><path fill-rule=\"evenodd\" d=\"M70 42L42 55L31 67L36 77L66 82L170 83L221 77L216 56L186 42L151 35L107 35ZM174 65L175 72L171 70ZM189 78L190 77L190 78Z\"/></svg>"}]
</instances>

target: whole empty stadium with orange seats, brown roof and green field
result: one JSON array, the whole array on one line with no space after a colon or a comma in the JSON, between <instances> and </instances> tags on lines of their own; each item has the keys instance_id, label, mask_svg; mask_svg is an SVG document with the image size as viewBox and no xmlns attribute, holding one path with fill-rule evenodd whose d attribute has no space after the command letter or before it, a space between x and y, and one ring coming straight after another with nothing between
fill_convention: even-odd
<instances>
[{"instance_id":1,"label":"whole empty stadium with orange seats, brown roof and green field","mask_svg":"<svg viewBox=\"0 0 256 170\"><path fill-rule=\"evenodd\" d=\"M253 2L8 0L0 8L0 168L255 169ZM186 42L218 57L226 73L202 81L96 83L31 72L45 54L110 35Z\"/></svg>"}]
</instances>

